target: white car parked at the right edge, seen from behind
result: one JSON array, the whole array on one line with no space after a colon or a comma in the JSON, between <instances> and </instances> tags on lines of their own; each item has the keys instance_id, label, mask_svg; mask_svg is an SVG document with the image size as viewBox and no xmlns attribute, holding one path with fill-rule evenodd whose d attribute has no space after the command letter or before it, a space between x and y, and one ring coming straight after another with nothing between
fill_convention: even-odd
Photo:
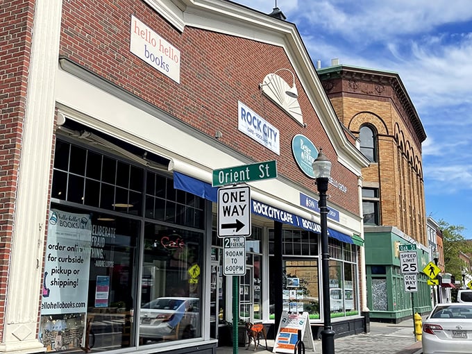
<instances>
[{"instance_id":1,"label":"white car parked at the right edge, seen from behind","mask_svg":"<svg viewBox=\"0 0 472 354\"><path fill-rule=\"evenodd\" d=\"M423 354L472 353L472 304L439 303L423 321Z\"/></svg>"}]
</instances>

